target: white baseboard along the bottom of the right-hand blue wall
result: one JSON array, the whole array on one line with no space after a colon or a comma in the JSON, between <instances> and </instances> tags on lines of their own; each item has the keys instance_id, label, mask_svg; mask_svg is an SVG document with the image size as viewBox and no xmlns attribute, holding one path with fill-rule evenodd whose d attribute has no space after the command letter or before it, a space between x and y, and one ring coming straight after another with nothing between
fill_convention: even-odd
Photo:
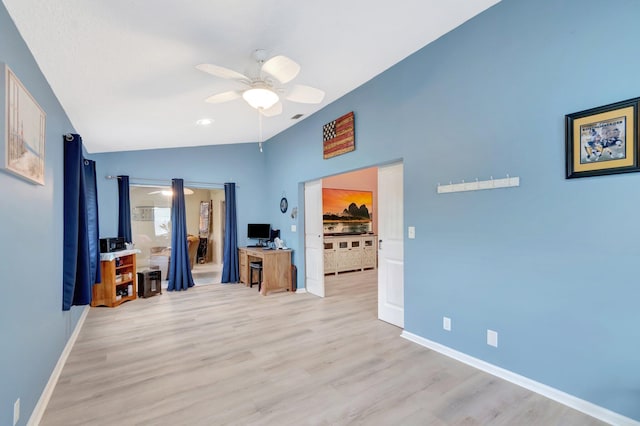
<instances>
[{"instance_id":1,"label":"white baseboard along the bottom of the right-hand blue wall","mask_svg":"<svg viewBox=\"0 0 640 426\"><path fill-rule=\"evenodd\" d=\"M521 376L512 371L505 370L504 368L500 368L493 364L489 364L486 361L474 358L465 353L458 352L448 346L441 345L440 343L425 339L424 337L409 333L408 331L403 331L400 336L414 343L417 343L420 346L432 349L436 352L448 356L449 358L453 358L457 361L477 368L478 370L482 370L486 373L492 374L496 377L499 377L508 382L511 382L532 392L538 393L556 402L571 407L575 410L581 411L585 414L588 414L589 416L602 420L603 422L620 426L640 426L640 422L634 419L623 416L622 414L618 414L614 411L608 410L604 407L585 401L583 399L577 398L573 395L569 395L568 393L552 388L551 386L544 385L540 382L536 382L535 380Z\"/></svg>"}]
</instances>

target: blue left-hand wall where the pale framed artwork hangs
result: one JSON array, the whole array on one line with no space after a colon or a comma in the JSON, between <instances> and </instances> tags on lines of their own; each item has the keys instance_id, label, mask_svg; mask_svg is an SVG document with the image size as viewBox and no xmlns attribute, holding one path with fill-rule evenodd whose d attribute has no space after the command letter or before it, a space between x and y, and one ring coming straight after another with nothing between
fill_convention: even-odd
<instances>
[{"instance_id":1,"label":"blue left-hand wall where the pale framed artwork hangs","mask_svg":"<svg viewBox=\"0 0 640 426\"><path fill-rule=\"evenodd\" d=\"M73 127L0 5L0 64L7 64L47 114L45 185L0 173L0 424L26 424L82 309L62 312L62 135ZM0 138L6 122L0 83ZM3 145L4 146L4 145Z\"/></svg>"}]
</instances>

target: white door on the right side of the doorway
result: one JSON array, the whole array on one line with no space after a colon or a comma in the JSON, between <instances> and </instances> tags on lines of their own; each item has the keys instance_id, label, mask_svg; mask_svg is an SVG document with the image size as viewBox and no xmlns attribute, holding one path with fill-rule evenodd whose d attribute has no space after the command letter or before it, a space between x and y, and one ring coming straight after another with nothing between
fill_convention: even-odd
<instances>
[{"instance_id":1,"label":"white door on the right side of the doorway","mask_svg":"<svg viewBox=\"0 0 640 426\"><path fill-rule=\"evenodd\" d=\"M404 328L402 163L378 168L378 318Z\"/></svg>"}]
</instances>

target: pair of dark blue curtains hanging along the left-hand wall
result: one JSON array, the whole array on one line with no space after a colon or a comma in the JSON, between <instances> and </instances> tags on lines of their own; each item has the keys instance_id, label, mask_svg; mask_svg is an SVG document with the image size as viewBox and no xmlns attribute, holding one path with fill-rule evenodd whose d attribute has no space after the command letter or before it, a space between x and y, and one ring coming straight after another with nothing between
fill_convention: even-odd
<instances>
[{"instance_id":1,"label":"pair of dark blue curtains hanging along the left-hand wall","mask_svg":"<svg viewBox=\"0 0 640 426\"><path fill-rule=\"evenodd\" d=\"M66 135L64 140L62 310L68 311L73 305L91 303L100 253L95 164L87 160L85 168L80 135Z\"/></svg>"}]
</instances>

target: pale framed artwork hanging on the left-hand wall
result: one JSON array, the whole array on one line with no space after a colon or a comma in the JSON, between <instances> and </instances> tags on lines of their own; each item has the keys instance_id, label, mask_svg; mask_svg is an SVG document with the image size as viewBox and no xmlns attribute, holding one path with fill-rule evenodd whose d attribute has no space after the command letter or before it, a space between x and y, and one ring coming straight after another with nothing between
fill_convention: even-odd
<instances>
[{"instance_id":1,"label":"pale framed artwork hanging on the left-hand wall","mask_svg":"<svg viewBox=\"0 0 640 426\"><path fill-rule=\"evenodd\" d=\"M44 185L46 115L11 69L4 66L5 170Z\"/></svg>"}]
</instances>

